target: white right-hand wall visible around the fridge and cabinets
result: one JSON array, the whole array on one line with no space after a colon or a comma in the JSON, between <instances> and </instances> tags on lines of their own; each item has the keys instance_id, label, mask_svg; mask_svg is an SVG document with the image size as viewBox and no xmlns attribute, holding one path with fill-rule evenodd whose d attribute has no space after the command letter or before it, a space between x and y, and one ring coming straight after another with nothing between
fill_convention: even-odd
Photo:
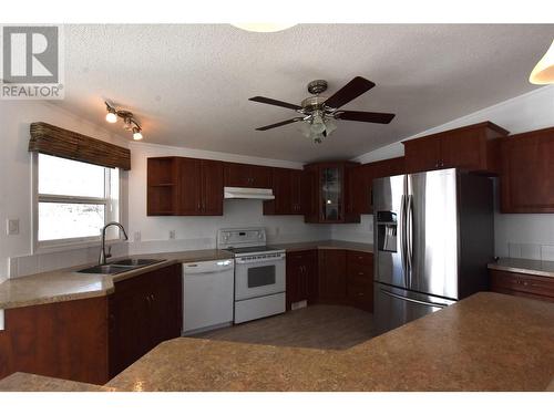
<instances>
[{"instance_id":1,"label":"white right-hand wall visible around the fridge and cabinets","mask_svg":"<svg viewBox=\"0 0 554 415\"><path fill-rule=\"evenodd\" d=\"M491 121L509 129L511 134L554 126L554 86L537 89L447 124L404 137L402 141L483 121ZM399 141L363 154L356 160L370 163L399 157L403 154L403 146ZM372 240L372 229L368 228L370 221L367 216L363 216L360 225L334 226L331 235L337 239L359 240L367 238ZM494 225L496 256L554 260L554 215L502 215L496 207Z\"/></svg>"}]
</instances>

